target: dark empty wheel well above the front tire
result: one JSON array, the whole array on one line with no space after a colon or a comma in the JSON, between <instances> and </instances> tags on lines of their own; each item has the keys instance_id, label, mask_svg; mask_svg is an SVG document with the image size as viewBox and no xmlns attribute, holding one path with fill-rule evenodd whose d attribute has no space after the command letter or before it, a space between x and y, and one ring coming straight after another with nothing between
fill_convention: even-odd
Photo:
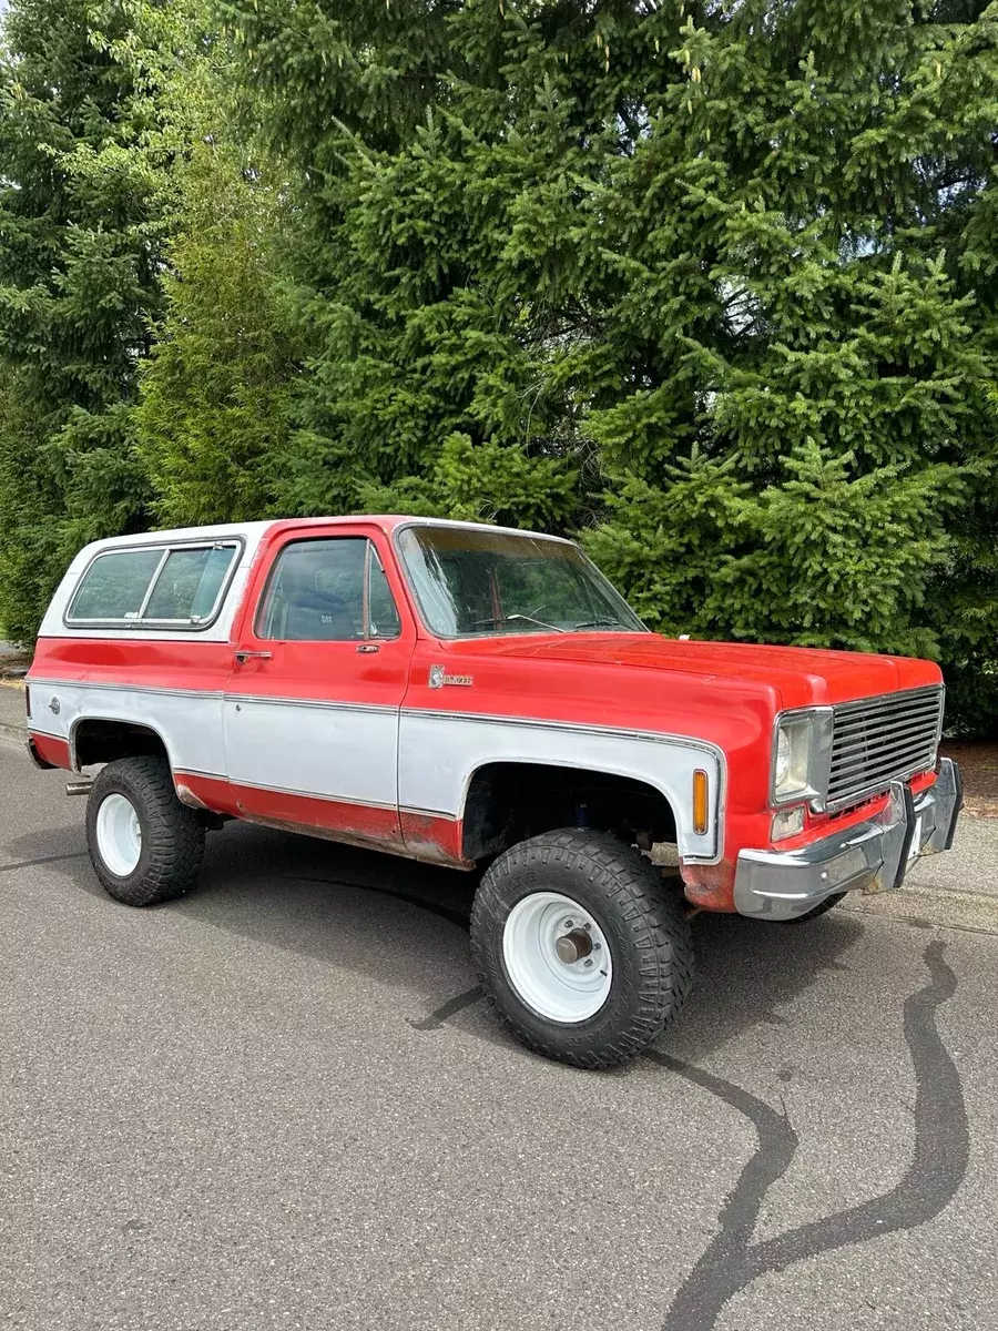
<instances>
[{"instance_id":1,"label":"dark empty wheel well above the front tire","mask_svg":"<svg viewBox=\"0 0 998 1331\"><path fill-rule=\"evenodd\" d=\"M645 849L676 840L672 805L645 781L544 763L490 763L468 785L463 855L491 858L518 841L564 827L613 832Z\"/></svg>"}]
</instances>

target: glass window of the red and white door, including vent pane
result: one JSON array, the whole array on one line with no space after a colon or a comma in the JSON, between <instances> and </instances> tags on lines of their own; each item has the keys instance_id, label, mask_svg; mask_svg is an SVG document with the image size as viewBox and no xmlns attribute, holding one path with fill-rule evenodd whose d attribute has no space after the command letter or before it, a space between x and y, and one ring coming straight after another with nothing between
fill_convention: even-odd
<instances>
[{"instance_id":1,"label":"glass window of the red and white door, including vent pane","mask_svg":"<svg viewBox=\"0 0 998 1331\"><path fill-rule=\"evenodd\" d=\"M285 546L257 615L258 638L291 643L394 638L401 631L385 571L365 536Z\"/></svg>"}]
</instances>

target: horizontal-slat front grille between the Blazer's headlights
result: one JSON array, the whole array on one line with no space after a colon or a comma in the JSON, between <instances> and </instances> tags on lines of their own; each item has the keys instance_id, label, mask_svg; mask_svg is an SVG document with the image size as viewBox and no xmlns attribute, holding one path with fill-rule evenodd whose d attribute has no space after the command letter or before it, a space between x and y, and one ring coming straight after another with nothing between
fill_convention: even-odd
<instances>
[{"instance_id":1,"label":"horizontal-slat front grille between the Blazer's headlights","mask_svg":"<svg viewBox=\"0 0 998 1331\"><path fill-rule=\"evenodd\" d=\"M829 809L841 809L935 765L941 688L838 703L833 716Z\"/></svg>"}]
</instances>

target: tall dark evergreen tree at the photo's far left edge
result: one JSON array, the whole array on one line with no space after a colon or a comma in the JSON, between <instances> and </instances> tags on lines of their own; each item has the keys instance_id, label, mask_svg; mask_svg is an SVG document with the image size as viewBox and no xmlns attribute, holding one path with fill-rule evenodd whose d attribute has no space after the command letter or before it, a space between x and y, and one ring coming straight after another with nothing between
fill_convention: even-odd
<instances>
[{"instance_id":1,"label":"tall dark evergreen tree at the photo's far left edge","mask_svg":"<svg viewBox=\"0 0 998 1331\"><path fill-rule=\"evenodd\" d=\"M158 301L138 7L12 0L0 49L0 620L28 640L88 539L141 528L129 403Z\"/></svg>"}]
</instances>

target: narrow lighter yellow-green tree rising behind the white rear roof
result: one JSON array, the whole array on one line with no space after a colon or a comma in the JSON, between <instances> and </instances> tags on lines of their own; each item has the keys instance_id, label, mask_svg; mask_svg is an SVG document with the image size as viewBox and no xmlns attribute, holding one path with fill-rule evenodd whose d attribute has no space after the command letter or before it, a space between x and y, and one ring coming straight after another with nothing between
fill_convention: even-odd
<instances>
[{"instance_id":1,"label":"narrow lighter yellow-green tree rising behind the white rear roof","mask_svg":"<svg viewBox=\"0 0 998 1331\"><path fill-rule=\"evenodd\" d=\"M180 181L165 314L142 367L138 453L162 526L265 516L287 445L301 338L285 327L277 190L233 146L196 146Z\"/></svg>"}]
</instances>

